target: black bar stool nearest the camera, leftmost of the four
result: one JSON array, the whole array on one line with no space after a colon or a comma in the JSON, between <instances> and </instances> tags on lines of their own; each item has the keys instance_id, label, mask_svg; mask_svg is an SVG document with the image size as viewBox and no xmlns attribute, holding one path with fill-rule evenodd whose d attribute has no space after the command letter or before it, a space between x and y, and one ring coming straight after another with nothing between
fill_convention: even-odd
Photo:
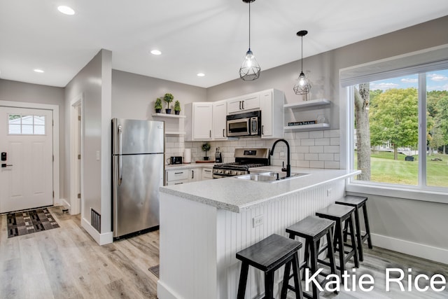
<instances>
[{"instance_id":1,"label":"black bar stool nearest the camera, leftmost of the four","mask_svg":"<svg viewBox=\"0 0 448 299\"><path fill-rule=\"evenodd\" d=\"M286 293L288 292L291 266L293 267L294 273L295 298L302 299L302 285L300 284L300 272L298 270L299 258L297 255L297 250L301 247L301 242L274 234L237 252L237 258L242 262L237 298L244 299L249 265L265 272L264 298L266 299L274 298L275 270L279 269L282 265L286 265L283 284L281 286L281 299L285 299Z\"/></svg>"}]
</instances>

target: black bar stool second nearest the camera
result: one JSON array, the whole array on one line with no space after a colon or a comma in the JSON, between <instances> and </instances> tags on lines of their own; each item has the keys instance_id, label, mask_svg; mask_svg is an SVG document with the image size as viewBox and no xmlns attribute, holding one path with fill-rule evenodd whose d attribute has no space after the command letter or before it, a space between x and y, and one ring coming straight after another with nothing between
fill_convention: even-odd
<instances>
[{"instance_id":1,"label":"black bar stool second nearest the camera","mask_svg":"<svg viewBox=\"0 0 448 299\"><path fill-rule=\"evenodd\" d=\"M305 239L305 256L304 262L300 265L300 270L302 268L309 268L309 262L311 263L311 274L317 271L317 264L322 263L330 267L330 271L336 274L336 263L335 263L335 251L333 249L333 238L332 231L335 228L335 221L331 221L325 218L318 218L316 216L308 216L303 220L290 225L286 228L286 232L289 233L290 239L295 239L295 237L302 237ZM323 249L319 250L319 243L321 238L326 237L327 245ZM330 263L325 260L318 258L318 255L323 251L327 251L327 256ZM311 258L310 258L311 254ZM327 276L321 272L322 275ZM319 291L315 284L312 285L312 294L303 291L303 295L306 298L318 299Z\"/></svg>"}]
</instances>

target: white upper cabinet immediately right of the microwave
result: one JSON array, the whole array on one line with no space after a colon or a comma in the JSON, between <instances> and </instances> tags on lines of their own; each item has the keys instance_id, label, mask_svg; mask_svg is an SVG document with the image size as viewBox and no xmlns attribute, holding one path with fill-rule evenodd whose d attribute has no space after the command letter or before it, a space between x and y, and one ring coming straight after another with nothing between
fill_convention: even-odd
<instances>
[{"instance_id":1,"label":"white upper cabinet immediately right of the microwave","mask_svg":"<svg viewBox=\"0 0 448 299\"><path fill-rule=\"evenodd\" d=\"M283 137L284 94L280 90L260 92L261 138Z\"/></svg>"}]
</instances>

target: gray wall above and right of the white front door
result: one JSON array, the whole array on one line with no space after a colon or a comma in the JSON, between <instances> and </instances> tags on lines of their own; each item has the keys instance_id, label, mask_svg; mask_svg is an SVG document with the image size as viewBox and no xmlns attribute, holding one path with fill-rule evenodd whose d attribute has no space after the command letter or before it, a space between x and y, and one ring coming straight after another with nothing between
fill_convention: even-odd
<instances>
[{"instance_id":1,"label":"gray wall above and right of the white front door","mask_svg":"<svg viewBox=\"0 0 448 299\"><path fill-rule=\"evenodd\" d=\"M64 169L66 168L64 163L64 88L0 79L0 100L59 106L59 197L66 198L64 188Z\"/></svg>"}]
</instances>

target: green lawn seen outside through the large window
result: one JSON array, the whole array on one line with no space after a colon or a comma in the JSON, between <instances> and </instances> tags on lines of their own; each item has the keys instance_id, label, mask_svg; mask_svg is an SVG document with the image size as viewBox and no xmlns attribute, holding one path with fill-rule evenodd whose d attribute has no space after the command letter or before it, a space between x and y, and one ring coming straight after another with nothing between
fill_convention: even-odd
<instances>
[{"instance_id":1,"label":"green lawn seen outside through the large window","mask_svg":"<svg viewBox=\"0 0 448 299\"><path fill-rule=\"evenodd\" d=\"M442 161L431 161L440 158ZM426 157L427 161L427 185L448 187L448 155L433 154ZM393 153L379 152L370 155L371 174L370 181L380 183L398 183L405 185L417 185L419 161L405 161L405 155L398 155L398 160L393 160ZM356 167L356 153L355 153Z\"/></svg>"}]
</instances>

